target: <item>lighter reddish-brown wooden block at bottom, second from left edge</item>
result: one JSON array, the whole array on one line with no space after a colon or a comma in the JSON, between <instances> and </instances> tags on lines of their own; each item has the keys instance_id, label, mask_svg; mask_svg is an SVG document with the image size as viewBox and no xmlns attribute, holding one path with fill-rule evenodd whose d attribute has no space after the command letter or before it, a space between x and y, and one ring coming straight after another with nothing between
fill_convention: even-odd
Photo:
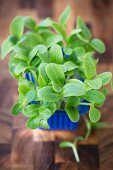
<instances>
[{"instance_id":1,"label":"lighter reddish-brown wooden block at bottom, second from left edge","mask_svg":"<svg viewBox=\"0 0 113 170\"><path fill-rule=\"evenodd\" d=\"M33 168L33 139L31 130L13 131L11 165L13 170L23 170L25 167Z\"/></svg>"}]
</instances>

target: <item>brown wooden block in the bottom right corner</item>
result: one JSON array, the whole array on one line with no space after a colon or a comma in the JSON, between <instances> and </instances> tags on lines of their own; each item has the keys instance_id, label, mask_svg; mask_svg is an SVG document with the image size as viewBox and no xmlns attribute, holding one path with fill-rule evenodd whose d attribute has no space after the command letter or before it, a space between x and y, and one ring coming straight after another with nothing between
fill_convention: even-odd
<instances>
[{"instance_id":1,"label":"brown wooden block in the bottom right corner","mask_svg":"<svg viewBox=\"0 0 113 170\"><path fill-rule=\"evenodd\" d=\"M97 131L99 140L100 169L113 170L113 129Z\"/></svg>"}]
</instances>

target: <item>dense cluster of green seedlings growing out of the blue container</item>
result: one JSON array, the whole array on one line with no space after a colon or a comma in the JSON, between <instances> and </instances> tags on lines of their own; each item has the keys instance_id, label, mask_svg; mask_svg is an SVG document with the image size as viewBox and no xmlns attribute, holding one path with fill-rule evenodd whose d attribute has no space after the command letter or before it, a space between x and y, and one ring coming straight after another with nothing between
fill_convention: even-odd
<instances>
[{"instance_id":1,"label":"dense cluster of green seedlings growing out of the blue container","mask_svg":"<svg viewBox=\"0 0 113 170\"><path fill-rule=\"evenodd\" d=\"M104 53L105 45L92 37L80 16L76 28L67 34L70 10L67 7L58 22L47 18L37 24L31 17L16 16L1 46L1 58L10 53L9 70L18 80L18 101L11 113L28 117L29 128L49 128L47 120L60 109L78 122L80 105L89 106L92 122L101 117L99 108L108 91L104 86L112 74L97 74L94 53ZM25 78L26 73L34 82Z\"/></svg>"}]
</instances>

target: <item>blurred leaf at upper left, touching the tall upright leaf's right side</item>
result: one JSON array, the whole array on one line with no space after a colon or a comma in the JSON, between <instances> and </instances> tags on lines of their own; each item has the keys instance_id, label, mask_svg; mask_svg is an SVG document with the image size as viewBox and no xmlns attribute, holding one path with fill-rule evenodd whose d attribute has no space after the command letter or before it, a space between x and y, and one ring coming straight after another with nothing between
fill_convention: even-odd
<instances>
[{"instance_id":1,"label":"blurred leaf at upper left, touching the tall upright leaf's right side","mask_svg":"<svg viewBox=\"0 0 113 170\"><path fill-rule=\"evenodd\" d=\"M25 25L25 27L27 27L27 28L30 28L31 30L35 30L35 28L36 28L36 22L35 22L35 20L33 20L31 17L29 17L29 16L25 16L24 18L23 18L23 20L24 20L24 25Z\"/></svg>"}]
</instances>

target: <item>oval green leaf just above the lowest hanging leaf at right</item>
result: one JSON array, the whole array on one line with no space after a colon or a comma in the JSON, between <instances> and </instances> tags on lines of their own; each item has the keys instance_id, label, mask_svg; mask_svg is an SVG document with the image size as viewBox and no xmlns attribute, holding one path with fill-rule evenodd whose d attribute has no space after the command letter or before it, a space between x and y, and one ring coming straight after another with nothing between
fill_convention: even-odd
<instances>
[{"instance_id":1,"label":"oval green leaf just above the lowest hanging leaf at right","mask_svg":"<svg viewBox=\"0 0 113 170\"><path fill-rule=\"evenodd\" d=\"M91 103L99 105L99 104L104 103L105 96L103 95L103 93L97 90L90 90L84 95L84 99Z\"/></svg>"}]
</instances>

